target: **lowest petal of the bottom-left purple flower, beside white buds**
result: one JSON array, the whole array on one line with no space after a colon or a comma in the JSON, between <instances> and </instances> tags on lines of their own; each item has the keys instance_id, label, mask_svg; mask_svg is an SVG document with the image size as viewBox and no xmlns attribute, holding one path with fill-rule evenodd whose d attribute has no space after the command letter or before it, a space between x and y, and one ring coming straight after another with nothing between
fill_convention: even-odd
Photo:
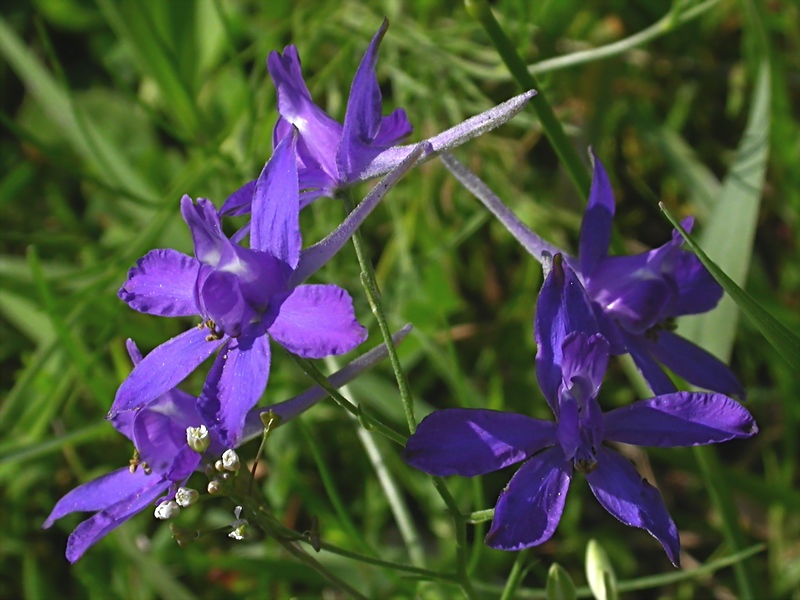
<instances>
[{"instance_id":1,"label":"lowest petal of the bottom-left purple flower, beside white buds","mask_svg":"<svg viewBox=\"0 0 800 600\"><path fill-rule=\"evenodd\" d=\"M74 563L107 533L154 503L172 484L155 475L145 477L147 481L136 492L104 508L75 528L67 540L66 555L69 562Z\"/></svg>"}]
</instances>

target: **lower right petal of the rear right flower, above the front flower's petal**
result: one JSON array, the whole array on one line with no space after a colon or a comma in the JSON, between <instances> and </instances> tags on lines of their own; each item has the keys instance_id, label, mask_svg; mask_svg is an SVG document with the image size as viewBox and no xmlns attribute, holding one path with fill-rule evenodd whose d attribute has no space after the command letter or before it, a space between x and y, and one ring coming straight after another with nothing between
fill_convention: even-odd
<instances>
[{"instance_id":1,"label":"lower right petal of the rear right flower, above the front flower's petal","mask_svg":"<svg viewBox=\"0 0 800 600\"><path fill-rule=\"evenodd\" d=\"M673 373L692 385L737 398L747 395L728 365L679 335L659 331L656 341L647 340L647 349Z\"/></svg>"}]
</instances>

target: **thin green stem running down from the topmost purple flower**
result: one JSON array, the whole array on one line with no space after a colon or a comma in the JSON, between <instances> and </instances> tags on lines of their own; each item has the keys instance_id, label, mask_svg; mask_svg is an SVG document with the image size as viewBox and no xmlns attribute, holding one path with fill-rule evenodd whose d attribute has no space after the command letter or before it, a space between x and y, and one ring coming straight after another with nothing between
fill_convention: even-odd
<instances>
[{"instance_id":1,"label":"thin green stem running down from the topmost purple flower","mask_svg":"<svg viewBox=\"0 0 800 600\"><path fill-rule=\"evenodd\" d=\"M341 198L344 203L345 210L348 213L352 212L355 203L353 202L350 191L341 190L337 193L337 196ZM383 305L381 304L381 293L378 287L378 281L375 278L375 269L367 256L364 240L361 237L361 231L359 229L353 233L353 247L356 250L358 265L361 268L361 283L367 294L367 300L369 301L372 313L375 315L375 319L378 322L381 337L383 337L383 341L389 350L389 362L392 365L392 370L397 379L397 388L400 391L400 400L403 402L403 409L406 413L408 431L409 433L414 433L417 429L417 420L414 417L414 402L411 398L411 388L408 385L408 378L403 371L400 358L397 356L397 349L392 341L392 332L389 329L389 324L386 322L386 314L383 312Z\"/></svg>"}]
</instances>

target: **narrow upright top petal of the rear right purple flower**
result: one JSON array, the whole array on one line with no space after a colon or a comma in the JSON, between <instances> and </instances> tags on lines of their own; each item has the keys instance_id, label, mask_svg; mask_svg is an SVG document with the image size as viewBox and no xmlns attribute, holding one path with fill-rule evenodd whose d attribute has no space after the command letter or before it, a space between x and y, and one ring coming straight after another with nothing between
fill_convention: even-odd
<instances>
[{"instance_id":1,"label":"narrow upright top petal of the rear right purple flower","mask_svg":"<svg viewBox=\"0 0 800 600\"><path fill-rule=\"evenodd\" d=\"M603 163L597 158L594 150L590 149L590 152L594 163L594 175L589 203L581 223L578 249L581 273L587 279L592 276L598 263L608 256L615 210L614 190L611 189Z\"/></svg>"}]
</instances>

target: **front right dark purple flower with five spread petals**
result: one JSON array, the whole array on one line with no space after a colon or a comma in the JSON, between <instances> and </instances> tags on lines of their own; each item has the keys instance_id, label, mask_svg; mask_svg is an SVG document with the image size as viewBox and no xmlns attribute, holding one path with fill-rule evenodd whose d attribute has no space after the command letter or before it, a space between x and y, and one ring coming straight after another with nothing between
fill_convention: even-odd
<instances>
[{"instance_id":1,"label":"front right dark purple flower with five spread petals","mask_svg":"<svg viewBox=\"0 0 800 600\"><path fill-rule=\"evenodd\" d=\"M486 543L520 550L553 535L574 471L586 475L600 504L622 523L655 537L678 565L678 530L661 495L603 442L694 446L757 431L736 401L676 392L603 413L597 401L609 357L591 301L556 257L536 311L536 375L556 422L483 409L446 409L426 417L404 458L433 475L472 477L523 465L500 494Z\"/></svg>"}]
</instances>

